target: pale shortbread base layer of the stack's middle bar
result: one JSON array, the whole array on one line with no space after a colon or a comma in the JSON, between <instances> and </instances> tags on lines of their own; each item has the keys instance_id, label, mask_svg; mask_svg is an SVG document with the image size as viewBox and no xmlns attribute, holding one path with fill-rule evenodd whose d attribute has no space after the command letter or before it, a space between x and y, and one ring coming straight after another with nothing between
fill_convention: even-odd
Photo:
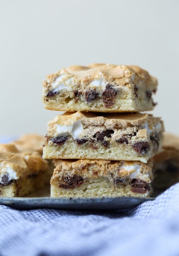
<instances>
[{"instance_id":1,"label":"pale shortbread base layer of the stack's middle bar","mask_svg":"<svg viewBox=\"0 0 179 256\"><path fill-rule=\"evenodd\" d=\"M137 153L133 146L124 145L115 142L110 144L109 148L104 147L101 143L96 143L97 149L89 146L88 142L77 145L77 143L68 139L63 145L49 145L45 142L43 148L43 158L45 159L101 159L101 160L127 160L127 161L147 161L157 152L161 151L161 141L159 141L158 150L154 149L150 141L150 150L147 154Z\"/></svg>"}]
</instances>

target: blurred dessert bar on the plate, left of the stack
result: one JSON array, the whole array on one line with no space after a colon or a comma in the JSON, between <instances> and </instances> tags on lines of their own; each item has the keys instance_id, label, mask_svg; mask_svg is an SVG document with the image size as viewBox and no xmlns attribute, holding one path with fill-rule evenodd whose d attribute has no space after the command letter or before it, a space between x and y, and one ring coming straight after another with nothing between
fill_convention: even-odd
<instances>
[{"instance_id":1,"label":"blurred dessert bar on the plate, left of the stack","mask_svg":"<svg viewBox=\"0 0 179 256\"><path fill-rule=\"evenodd\" d=\"M34 151L32 147L28 150L28 145L32 146L32 143L27 140L28 145L25 145L25 141L24 144L21 139L19 143L0 144L0 196L24 196L50 181L50 164L42 159L36 147Z\"/></svg>"}]
</instances>

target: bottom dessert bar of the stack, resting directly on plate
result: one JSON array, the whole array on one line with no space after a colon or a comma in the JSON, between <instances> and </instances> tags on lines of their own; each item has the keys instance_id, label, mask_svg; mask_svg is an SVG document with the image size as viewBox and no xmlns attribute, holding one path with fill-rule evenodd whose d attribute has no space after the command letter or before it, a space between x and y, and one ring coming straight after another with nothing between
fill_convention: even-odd
<instances>
[{"instance_id":1,"label":"bottom dessert bar of the stack, resting directly on plate","mask_svg":"<svg viewBox=\"0 0 179 256\"><path fill-rule=\"evenodd\" d=\"M149 196L152 161L54 160L53 197Z\"/></svg>"}]
</instances>

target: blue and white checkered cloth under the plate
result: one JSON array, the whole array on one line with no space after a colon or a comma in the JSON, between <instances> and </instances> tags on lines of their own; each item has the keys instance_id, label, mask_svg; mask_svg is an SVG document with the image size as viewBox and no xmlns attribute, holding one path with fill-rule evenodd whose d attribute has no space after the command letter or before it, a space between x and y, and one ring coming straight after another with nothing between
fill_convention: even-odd
<instances>
[{"instance_id":1,"label":"blue and white checkered cloth under the plate","mask_svg":"<svg viewBox=\"0 0 179 256\"><path fill-rule=\"evenodd\" d=\"M0 256L178 256L179 183L154 201L112 212L0 205Z\"/></svg>"}]
</instances>

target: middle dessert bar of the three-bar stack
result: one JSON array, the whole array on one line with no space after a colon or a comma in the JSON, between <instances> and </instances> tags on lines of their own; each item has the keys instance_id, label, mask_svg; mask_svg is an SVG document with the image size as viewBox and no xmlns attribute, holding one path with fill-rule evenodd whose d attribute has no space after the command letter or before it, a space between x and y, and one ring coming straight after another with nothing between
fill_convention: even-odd
<instances>
[{"instance_id":1,"label":"middle dessert bar of the three-bar stack","mask_svg":"<svg viewBox=\"0 0 179 256\"><path fill-rule=\"evenodd\" d=\"M160 152L163 130L160 118L148 114L65 113L48 122L43 158L146 163Z\"/></svg>"}]
</instances>

